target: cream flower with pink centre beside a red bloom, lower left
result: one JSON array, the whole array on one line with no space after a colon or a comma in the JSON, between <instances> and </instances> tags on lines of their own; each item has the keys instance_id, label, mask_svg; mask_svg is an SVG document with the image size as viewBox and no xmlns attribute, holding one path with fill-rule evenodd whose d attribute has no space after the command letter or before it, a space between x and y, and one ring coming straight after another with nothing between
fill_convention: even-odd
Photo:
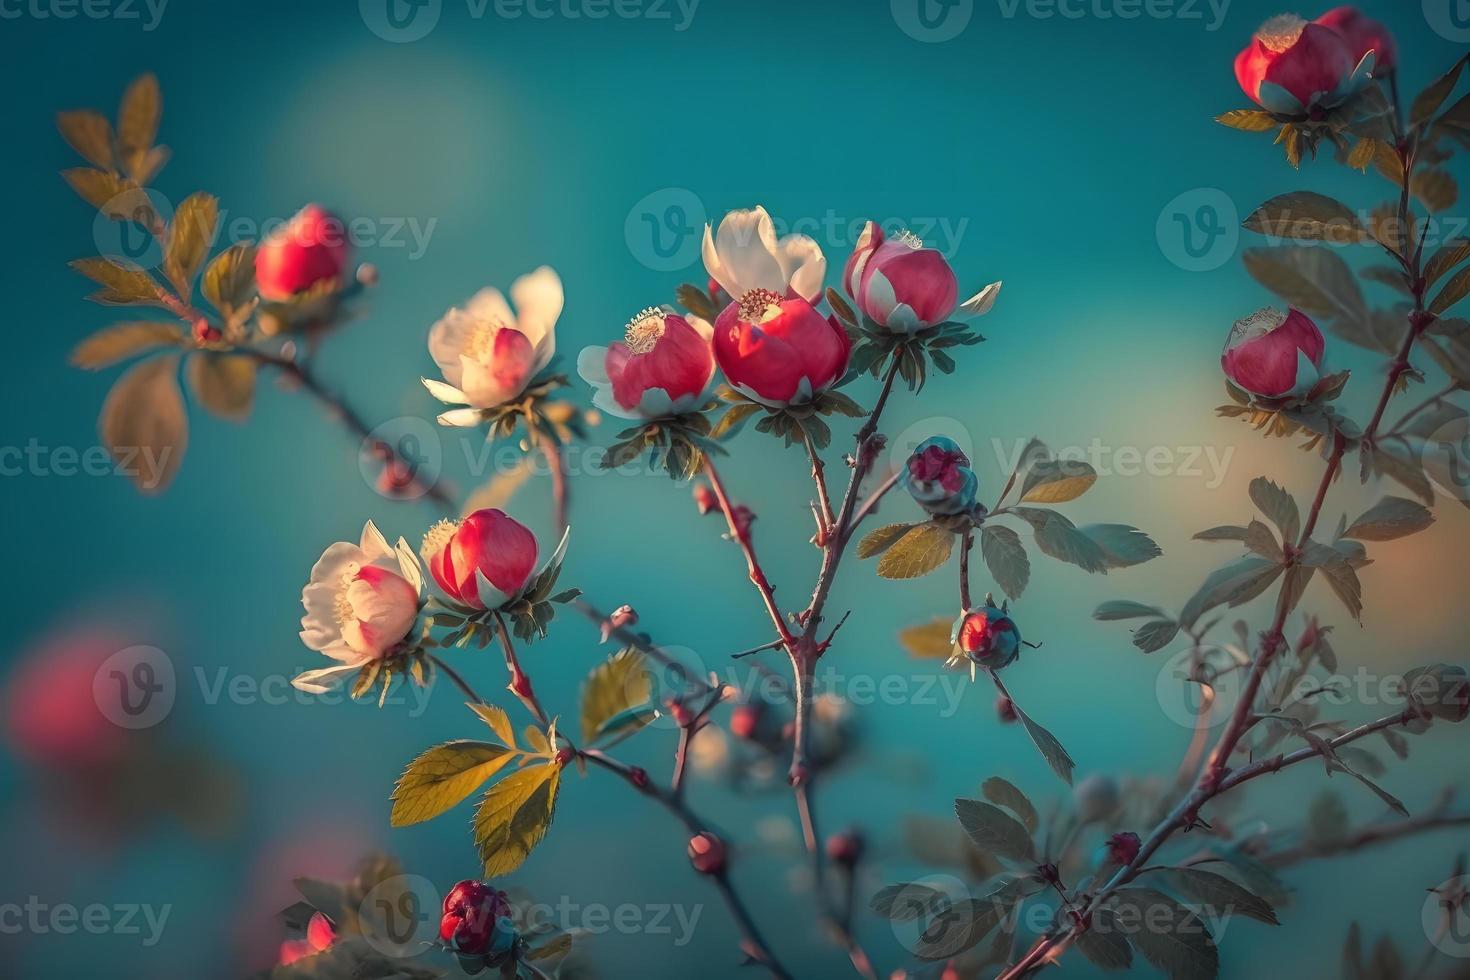
<instances>
[{"instance_id":1,"label":"cream flower with pink centre beside a red bloom, lower left","mask_svg":"<svg viewBox=\"0 0 1470 980\"><path fill-rule=\"evenodd\" d=\"M388 545L369 520L362 541L338 541L312 567L301 589L301 642L341 661L307 670L291 685L310 693L331 691L363 664L397 646L419 616L423 572L409 544Z\"/></svg>"}]
</instances>

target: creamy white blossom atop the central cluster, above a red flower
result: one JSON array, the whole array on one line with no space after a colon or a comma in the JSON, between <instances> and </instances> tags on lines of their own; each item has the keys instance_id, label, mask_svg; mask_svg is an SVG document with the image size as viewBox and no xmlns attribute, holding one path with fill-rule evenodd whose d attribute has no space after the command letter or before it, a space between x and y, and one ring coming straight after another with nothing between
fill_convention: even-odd
<instances>
[{"instance_id":1,"label":"creamy white blossom atop the central cluster, above a red flower","mask_svg":"<svg viewBox=\"0 0 1470 980\"><path fill-rule=\"evenodd\" d=\"M826 257L807 235L776 239L776 226L764 207L731 212L719 232L704 226L704 267L720 288L739 300L751 289L770 289L779 297L798 295L807 303L822 298Z\"/></svg>"}]
</instances>

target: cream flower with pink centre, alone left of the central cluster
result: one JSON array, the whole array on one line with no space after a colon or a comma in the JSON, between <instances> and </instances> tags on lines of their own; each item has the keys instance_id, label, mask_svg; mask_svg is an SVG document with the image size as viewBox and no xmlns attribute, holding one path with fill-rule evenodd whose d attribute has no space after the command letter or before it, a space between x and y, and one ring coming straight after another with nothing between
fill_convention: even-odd
<instances>
[{"instance_id":1,"label":"cream flower with pink centre, alone left of the central cluster","mask_svg":"<svg viewBox=\"0 0 1470 980\"><path fill-rule=\"evenodd\" d=\"M562 279L541 266L510 284L510 311L500 289L487 287L429 329L429 356L444 381L423 379L440 401L470 406L440 416L442 425L476 425L481 408L501 406L522 391L556 354Z\"/></svg>"}]
</instances>

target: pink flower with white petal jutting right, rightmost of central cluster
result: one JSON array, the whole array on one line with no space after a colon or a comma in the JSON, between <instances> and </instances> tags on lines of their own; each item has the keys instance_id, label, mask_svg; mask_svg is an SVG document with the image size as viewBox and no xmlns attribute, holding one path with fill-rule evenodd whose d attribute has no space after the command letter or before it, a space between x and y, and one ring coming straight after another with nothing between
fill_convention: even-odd
<instances>
[{"instance_id":1,"label":"pink flower with white petal jutting right, rightmost of central cluster","mask_svg":"<svg viewBox=\"0 0 1470 980\"><path fill-rule=\"evenodd\" d=\"M842 284L867 319L895 334L944 323L957 311L960 287L945 257L925 248L910 232L885 239L876 222L863 228L842 272ZM985 287L958 311L963 316L986 313L1000 287L998 282Z\"/></svg>"}]
</instances>

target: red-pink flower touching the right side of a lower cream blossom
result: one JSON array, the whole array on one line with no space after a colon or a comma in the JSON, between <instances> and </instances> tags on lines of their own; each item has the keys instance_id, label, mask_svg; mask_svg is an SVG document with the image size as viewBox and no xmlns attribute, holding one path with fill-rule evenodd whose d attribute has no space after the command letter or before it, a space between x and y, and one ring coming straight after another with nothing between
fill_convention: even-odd
<instances>
[{"instance_id":1,"label":"red-pink flower touching the right side of a lower cream blossom","mask_svg":"<svg viewBox=\"0 0 1470 980\"><path fill-rule=\"evenodd\" d=\"M423 536L423 560L456 602L500 608L520 595L531 579L537 538L504 511L476 510L459 523L441 520L431 527Z\"/></svg>"}]
</instances>

